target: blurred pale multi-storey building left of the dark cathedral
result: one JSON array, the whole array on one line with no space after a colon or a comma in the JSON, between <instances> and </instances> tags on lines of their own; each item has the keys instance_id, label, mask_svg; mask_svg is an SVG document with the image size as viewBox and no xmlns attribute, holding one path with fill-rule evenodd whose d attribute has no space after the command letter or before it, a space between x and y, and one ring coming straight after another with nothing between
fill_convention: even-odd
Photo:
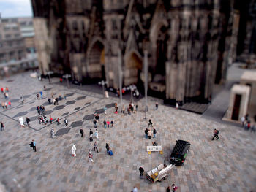
<instances>
[{"instance_id":1,"label":"blurred pale multi-storey building left of the dark cathedral","mask_svg":"<svg viewBox=\"0 0 256 192\"><path fill-rule=\"evenodd\" d=\"M0 16L0 77L37 66L34 47L32 18Z\"/></svg>"}]
</instances>

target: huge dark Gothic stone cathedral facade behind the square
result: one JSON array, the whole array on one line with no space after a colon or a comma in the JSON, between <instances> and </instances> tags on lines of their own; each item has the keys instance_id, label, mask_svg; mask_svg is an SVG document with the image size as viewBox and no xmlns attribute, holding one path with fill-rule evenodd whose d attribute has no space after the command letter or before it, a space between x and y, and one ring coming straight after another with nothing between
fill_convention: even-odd
<instances>
[{"instance_id":1,"label":"huge dark Gothic stone cathedral facade behind the square","mask_svg":"<svg viewBox=\"0 0 256 192\"><path fill-rule=\"evenodd\" d=\"M239 11L233 0L32 0L39 67L78 81L148 87L169 101L208 101L236 57Z\"/></svg>"}]
</instances>

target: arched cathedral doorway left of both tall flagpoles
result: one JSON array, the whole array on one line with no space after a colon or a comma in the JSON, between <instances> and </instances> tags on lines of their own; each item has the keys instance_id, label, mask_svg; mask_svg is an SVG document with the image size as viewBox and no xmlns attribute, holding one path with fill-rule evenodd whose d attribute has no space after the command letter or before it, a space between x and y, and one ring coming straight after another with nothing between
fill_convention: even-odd
<instances>
[{"instance_id":1,"label":"arched cathedral doorway left of both tall flagpoles","mask_svg":"<svg viewBox=\"0 0 256 192\"><path fill-rule=\"evenodd\" d=\"M89 78L105 80L105 50L102 42L97 40L89 50Z\"/></svg>"}]
</instances>

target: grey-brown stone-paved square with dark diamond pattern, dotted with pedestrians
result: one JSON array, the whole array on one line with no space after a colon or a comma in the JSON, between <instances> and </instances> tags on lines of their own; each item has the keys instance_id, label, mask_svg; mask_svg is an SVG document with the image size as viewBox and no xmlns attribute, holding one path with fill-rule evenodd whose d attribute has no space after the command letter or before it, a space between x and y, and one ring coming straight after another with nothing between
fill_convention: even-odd
<instances>
[{"instance_id":1,"label":"grey-brown stone-paved square with dark diamond pattern, dotted with pedestrians","mask_svg":"<svg viewBox=\"0 0 256 192\"><path fill-rule=\"evenodd\" d=\"M255 191L255 133L162 104L156 111L154 99L150 98L147 117L157 129L157 138L148 140L144 137L148 120L144 120L143 99L138 102L136 114L123 115L114 113L113 103L119 103L116 98L102 99L96 93L67 89L66 84L48 85L47 80L39 82L29 77L29 73L0 81L0 86L4 85L10 88L12 100L10 109L0 110L0 120L5 124L5 131L0 132L0 183L7 191L132 191L133 186L138 191L165 191L172 183L178 186L177 191ZM37 100L35 94L42 91L43 85L47 87L45 99ZM31 128L20 128L20 115L24 119L28 115L36 117L35 107L47 102L52 93L72 94L67 101L59 101L62 109L45 106L53 118L61 118L61 125L41 126L34 120ZM20 95L26 96L23 105ZM4 101L2 95L0 101ZM127 107L128 101L124 103ZM108 106L107 115L99 115L99 139L94 137L99 153L92 152L94 164L91 164L88 151L93 142L89 141L89 129L95 131L91 118L104 106ZM69 120L67 128L64 118ZM113 120L114 127L103 128L104 119ZM80 127L85 132L83 138ZM60 133L54 139L50 138L51 128ZM218 141L211 140L214 128L219 129ZM32 139L37 142L36 153L29 147ZM148 171L168 161L176 139L191 143L184 166L174 167L162 183L140 179L140 165ZM162 145L163 155L157 152L148 155L146 146L152 141ZM106 142L113 156L106 154ZM72 143L77 147L76 157L71 156Z\"/></svg>"}]
</instances>

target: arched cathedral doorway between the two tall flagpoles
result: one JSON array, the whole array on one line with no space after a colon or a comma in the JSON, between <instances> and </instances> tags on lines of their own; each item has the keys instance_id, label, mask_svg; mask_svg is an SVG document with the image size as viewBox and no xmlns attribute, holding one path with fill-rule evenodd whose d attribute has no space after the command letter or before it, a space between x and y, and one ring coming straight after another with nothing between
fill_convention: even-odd
<instances>
[{"instance_id":1,"label":"arched cathedral doorway between the two tall flagpoles","mask_svg":"<svg viewBox=\"0 0 256 192\"><path fill-rule=\"evenodd\" d=\"M124 57L124 86L141 84L140 73L142 71L142 58L139 53L132 51Z\"/></svg>"}]
</instances>

